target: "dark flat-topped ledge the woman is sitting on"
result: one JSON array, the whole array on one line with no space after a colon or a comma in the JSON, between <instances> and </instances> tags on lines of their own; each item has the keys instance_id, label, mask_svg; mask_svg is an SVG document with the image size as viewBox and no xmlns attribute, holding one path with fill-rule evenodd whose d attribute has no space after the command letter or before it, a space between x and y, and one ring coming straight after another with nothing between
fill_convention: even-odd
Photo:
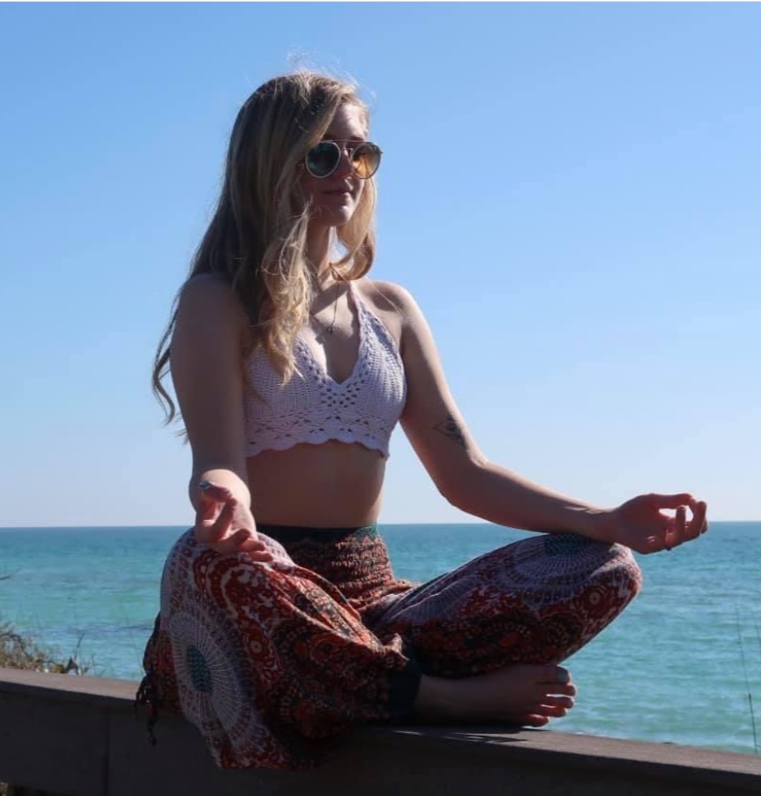
<instances>
[{"instance_id":1,"label":"dark flat-topped ledge the woman is sitting on","mask_svg":"<svg viewBox=\"0 0 761 796\"><path fill-rule=\"evenodd\" d=\"M0 669L0 781L82 796L761 792L761 758L504 727L363 727L321 769L223 771L182 719L151 747L136 684Z\"/></svg>"}]
</instances>

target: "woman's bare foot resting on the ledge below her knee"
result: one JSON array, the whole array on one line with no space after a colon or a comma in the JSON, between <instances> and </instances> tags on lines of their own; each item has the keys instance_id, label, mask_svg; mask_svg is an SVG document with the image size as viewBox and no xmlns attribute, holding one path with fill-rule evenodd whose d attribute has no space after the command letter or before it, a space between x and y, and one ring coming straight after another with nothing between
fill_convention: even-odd
<instances>
[{"instance_id":1,"label":"woman's bare foot resting on the ledge below her knee","mask_svg":"<svg viewBox=\"0 0 761 796\"><path fill-rule=\"evenodd\" d=\"M503 721L544 727L574 706L576 685L561 666L515 663L490 674L450 679L423 675L417 718L443 722Z\"/></svg>"}]
</instances>

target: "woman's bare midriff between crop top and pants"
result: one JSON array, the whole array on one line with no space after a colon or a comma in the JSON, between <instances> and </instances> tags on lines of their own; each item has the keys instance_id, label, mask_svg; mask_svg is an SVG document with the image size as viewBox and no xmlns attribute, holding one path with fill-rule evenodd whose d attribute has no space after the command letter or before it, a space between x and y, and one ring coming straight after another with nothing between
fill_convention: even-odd
<instances>
[{"instance_id":1,"label":"woman's bare midriff between crop top and pants","mask_svg":"<svg viewBox=\"0 0 761 796\"><path fill-rule=\"evenodd\" d=\"M349 528L380 513L386 460L358 443L303 443L247 460L257 523Z\"/></svg>"}]
</instances>

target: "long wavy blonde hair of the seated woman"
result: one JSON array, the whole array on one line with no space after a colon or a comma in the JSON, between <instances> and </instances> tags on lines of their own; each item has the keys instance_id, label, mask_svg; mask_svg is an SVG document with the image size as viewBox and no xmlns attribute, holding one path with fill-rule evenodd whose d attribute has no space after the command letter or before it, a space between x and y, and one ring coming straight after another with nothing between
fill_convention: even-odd
<instances>
[{"instance_id":1,"label":"long wavy blonde hair of the seated woman","mask_svg":"<svg viewBox=\"0 0 761 796\"><path fill-rule=\"evenodd\" d=\"M345 104L369 111L356 87L311 71L268 80L238 111L227 150L225 178L214 217L191 261L188 280L214 274L227 281L248 314L249 334L241 362L261 347L287 382L295 370L293 343L309 314L315 274L305 252L309 203L299 166ZM337 279L359 279L375 259L375 185L366 181L351 220L334 230L343 256L333 263ZM166 422L176 414L162 381L169 370L170 340L177 318L164 330L153 360L153 393Z\"/></svg>"}]
</instances>

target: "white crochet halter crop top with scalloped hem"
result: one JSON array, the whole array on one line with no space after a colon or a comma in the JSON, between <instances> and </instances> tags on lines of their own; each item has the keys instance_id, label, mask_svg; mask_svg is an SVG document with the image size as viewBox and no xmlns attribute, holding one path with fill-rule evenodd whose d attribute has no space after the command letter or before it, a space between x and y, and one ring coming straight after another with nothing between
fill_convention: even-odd
<instances>
[{"instance_id":1,"label":"white crochet halter crop top with scalloped hem","mask_svg":"<svg viewBox=\"0 0 761 796\"><path fill-rule=\"evenodd\" d=\"M388 457L388 440L407 398L404 365L386 324L365 306L351 281L348 290L360 337L354 370L345 381L325 373L301 335L293 352L299 373L285 386L260 348L248 359L246 374L259 397L247 391L244 399L246 456L339 440Z\"/></svg>"}]
</instances>

